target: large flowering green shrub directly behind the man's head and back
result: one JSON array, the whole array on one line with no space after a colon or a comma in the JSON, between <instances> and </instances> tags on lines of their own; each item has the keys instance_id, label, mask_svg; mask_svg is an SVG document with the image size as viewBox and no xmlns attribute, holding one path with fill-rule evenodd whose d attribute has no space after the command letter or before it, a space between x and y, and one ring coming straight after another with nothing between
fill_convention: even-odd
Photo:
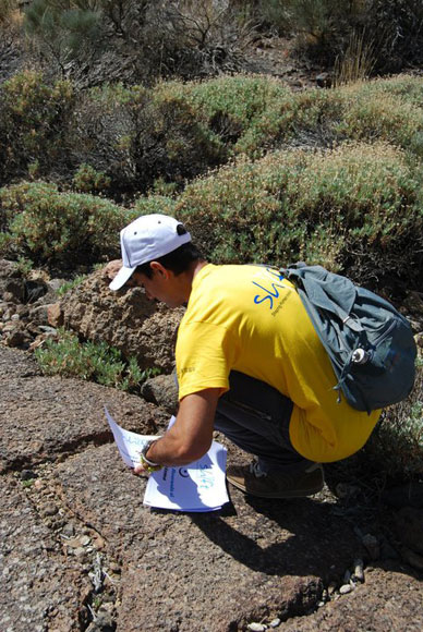
<instances>
[{"instance_id":1,"label":"large flowering green shrub directly behind the man's head and back","mask_svg":"<svg viewBox=\"0 0 423 632\"><path fill-rule=\"evenodd\" d=\"M215 262L303 259L411 285L422 272L420 173L386 144L243 160L188 185L174 215Z\"/></svg>"}]
</instances>

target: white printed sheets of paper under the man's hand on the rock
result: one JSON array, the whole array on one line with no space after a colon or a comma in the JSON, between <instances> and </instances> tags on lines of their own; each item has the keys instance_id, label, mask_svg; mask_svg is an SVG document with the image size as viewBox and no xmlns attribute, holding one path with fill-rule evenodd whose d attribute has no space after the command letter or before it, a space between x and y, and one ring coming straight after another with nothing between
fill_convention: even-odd
<instances>
[{"instance_id":1,"label":"white printed sheets of paper under the man's hand on the rock","mask_svg":"<svg viewBox=\"0 0 423 632\"><path fill-rule=\"evenodd\" d=\"M137 435L119 426L105 406L119 452L129 467L140 463L140 453L153 435ZM172 416L169 428L176 418ZM147 483L144 505L177 511L215 511L229 501L225 482L227 450L213 441L207 454L181 467L154 472Z\"/></svg>"}]
</instances>

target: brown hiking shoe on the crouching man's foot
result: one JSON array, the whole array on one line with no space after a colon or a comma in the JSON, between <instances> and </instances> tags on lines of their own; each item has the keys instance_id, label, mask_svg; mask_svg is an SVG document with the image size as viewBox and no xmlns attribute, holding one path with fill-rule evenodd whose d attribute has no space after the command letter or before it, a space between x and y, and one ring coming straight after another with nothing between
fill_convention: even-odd
<instances>
[{"instance_id":1,"label":"brown hiking shoe on the crouching man's foot","mask_svg":"<svg viewBox=\"0 0 423 632\"><path fill-rule=\"evenodd\" d=\"M245 494L259 498L298 498L317 494L323 488L324 477L321 463L313 463L299 474L274 472L266 474L257 462L250 465L231 465L227 479Z\"/></svg>"}]
</instances>

